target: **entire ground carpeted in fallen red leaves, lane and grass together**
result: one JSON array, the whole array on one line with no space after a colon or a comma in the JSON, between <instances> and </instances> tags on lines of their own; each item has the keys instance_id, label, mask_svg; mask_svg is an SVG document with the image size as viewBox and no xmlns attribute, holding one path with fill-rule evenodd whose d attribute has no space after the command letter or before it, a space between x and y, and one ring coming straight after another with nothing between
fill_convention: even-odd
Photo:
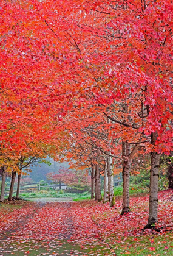
<instances>
[{"instance_id":1,"label":"entire ground carpeted in fallen red leaves, lane and grass together","mask_svg":"<svg viewBox=\"0 0 173 256\"><path fill-rule=\"evenodd\" d=\"M4 204L0 255L172 255L172 190L159 193L158 228L145 230L148 196L131 199L132 212L95 201Z\"/></svg>"}]
</instances>

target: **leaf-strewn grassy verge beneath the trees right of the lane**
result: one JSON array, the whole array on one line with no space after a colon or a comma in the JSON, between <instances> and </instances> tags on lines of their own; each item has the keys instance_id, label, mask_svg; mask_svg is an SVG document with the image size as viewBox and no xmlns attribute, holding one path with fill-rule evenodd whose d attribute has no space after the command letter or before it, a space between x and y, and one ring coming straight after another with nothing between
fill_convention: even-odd
<instances>
[{"instance_id":1,"label":"leaf-strewn grassy verge beneath the trees right of the lane","mask_svg":"<svg viewBox=\"0 0 173 256\"><path fill-rule=\"evenodd\" d=\"M131 213L120 215L121 199L117 199L117 209L101 211L92 216L99 234L110 244L112 252L117 256L163 256L173 255L172 207L168 201L171 190L158 194L158 224L157 230L143 227L148 221L148 197L132 196ZM112 255L112 254L110 254Z\"/></svg>"}]
</instances>

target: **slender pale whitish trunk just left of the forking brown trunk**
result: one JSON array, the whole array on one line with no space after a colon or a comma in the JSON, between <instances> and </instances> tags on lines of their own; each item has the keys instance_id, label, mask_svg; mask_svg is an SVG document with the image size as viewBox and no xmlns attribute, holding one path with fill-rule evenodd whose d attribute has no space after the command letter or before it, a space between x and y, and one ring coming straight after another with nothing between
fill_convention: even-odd
<instances>
[{"instance_id":1,"label":"slender pale whitish trunk just left of the forking brown trunk","mask_svg":"<svg viewBox=\"0 0 173 256\"><path fill-rule=\"evenodd\" d=\"M109 205L113 207L115 205L115 196L114 196L114 172L113 172L113 163L112 157L108 157L108 188L109 188Z\"/></svg>"}]
</instances>

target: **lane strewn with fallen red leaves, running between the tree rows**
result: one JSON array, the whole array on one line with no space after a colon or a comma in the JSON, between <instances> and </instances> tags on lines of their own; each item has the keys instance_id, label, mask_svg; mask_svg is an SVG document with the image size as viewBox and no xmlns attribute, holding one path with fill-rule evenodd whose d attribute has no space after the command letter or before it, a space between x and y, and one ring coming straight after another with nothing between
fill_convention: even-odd
<instances>
[{"instance_id":1,"label":"lane strewn with fallen red leaves, running between the tree rows","mask_svg":"<svg viewBox=\"0 0 173 256\"><path fill-rule=\"evenodd\" d=\"M73 202L45 202L24 207L4 225L0 235L0 256L83 255L70 244L74 233L70 208ZM11 217L10 217L11 218Z\"/></svg>"}]
</instances>

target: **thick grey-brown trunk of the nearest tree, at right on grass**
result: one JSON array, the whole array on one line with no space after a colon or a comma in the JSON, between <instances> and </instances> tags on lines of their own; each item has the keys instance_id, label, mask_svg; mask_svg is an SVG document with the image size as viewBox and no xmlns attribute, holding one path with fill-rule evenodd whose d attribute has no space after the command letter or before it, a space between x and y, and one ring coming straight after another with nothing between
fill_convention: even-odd
<instances>
[{"instance_id":1,"label":"thick grey-brown trunk of the nearest tree, at right on grass","mask_svg":"<svg viewBox=\"0 0 173 256\"><path fill-rule=\"evenodd\" d=\"M157 133L151 133L151 144L155 145ZM156 151L151 152L151 170L149 186L149 216L148 224L145 228L151 228L157 222L158 218L158 171L159 171L160 154Z\"/></svg>"}]
</instances>

